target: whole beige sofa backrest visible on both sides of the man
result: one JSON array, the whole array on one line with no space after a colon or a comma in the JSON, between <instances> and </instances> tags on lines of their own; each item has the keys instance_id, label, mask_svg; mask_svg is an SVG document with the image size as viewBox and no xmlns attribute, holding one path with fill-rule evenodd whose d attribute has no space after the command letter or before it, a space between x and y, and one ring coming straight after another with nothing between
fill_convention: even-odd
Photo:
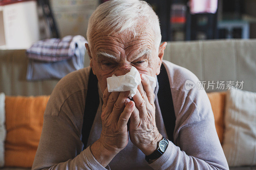
<instances>
[{"instance_id":1,"label":"whole beige sofa backrest visible on both sides of the man","mask_svg":"<svg viewBox=\"0 0 256 170\"><path fill-rule=\"evenodd\" d=\"M0 92L49 95L59 80L27 81L26 50L0 50ZM256 92L256 39L167 42L164 59L192 71L200 81L244 81ZM85 55L85 66L89 65ZM224 91L206 89L206 92Z\"/></svg>"}]
</instances>

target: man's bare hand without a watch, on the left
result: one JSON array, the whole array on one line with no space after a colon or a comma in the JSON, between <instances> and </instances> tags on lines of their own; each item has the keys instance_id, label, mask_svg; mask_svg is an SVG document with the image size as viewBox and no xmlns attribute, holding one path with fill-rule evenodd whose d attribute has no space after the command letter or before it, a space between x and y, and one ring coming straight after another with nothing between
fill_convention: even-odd
<instances>
[{"instance_id":1,"label":"man's bare hand without a watch, on the left","mask_svg":"<svg viewBox=\"0 0 256 170\"><path fill-rule=\"evenodd\" d=\"M127 122L135 106L130 101L124 107L128 94L129 91L109 93L107 88L103 93L102 131L100 139L90 149L94 158L104 167L129 141Z\"/></svg>"}]
</instances>

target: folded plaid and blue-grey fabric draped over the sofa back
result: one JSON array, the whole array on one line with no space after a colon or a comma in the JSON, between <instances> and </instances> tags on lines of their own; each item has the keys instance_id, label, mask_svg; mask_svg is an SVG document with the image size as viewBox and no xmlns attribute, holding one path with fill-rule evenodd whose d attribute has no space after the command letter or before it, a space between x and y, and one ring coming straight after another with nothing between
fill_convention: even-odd
<instances>
[{"instance_id":1,"label":"folded plaid and blue-grey fabric draped over the sofa back","mask_svg":"<svg viewBox=\"0 0 256 170\"><path fill-rule=\"evenodd\" d=\"M27 80L63 78L84 68L85 43L81 35L38 41L27 50Z\"/></svg>"}]
</instances>

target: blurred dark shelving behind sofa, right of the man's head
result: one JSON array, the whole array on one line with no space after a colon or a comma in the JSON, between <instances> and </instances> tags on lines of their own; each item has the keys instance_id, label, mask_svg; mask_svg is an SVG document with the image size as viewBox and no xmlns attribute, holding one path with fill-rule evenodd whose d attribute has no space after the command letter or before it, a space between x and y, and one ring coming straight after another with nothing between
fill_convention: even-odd
<instances>
[{"instance_id":1,"label":"blurred dark shelving behind sofa, right of the man's head","mask_svg":"<svg viewBox=\"0 0 256 170\"><path fill-rule=\"evenodd\" d=\"M192 13L192 1L146 0L159 17L162 41L256 38L255 0L218 0L215 13Z\"/></svg>"}]
</instances>

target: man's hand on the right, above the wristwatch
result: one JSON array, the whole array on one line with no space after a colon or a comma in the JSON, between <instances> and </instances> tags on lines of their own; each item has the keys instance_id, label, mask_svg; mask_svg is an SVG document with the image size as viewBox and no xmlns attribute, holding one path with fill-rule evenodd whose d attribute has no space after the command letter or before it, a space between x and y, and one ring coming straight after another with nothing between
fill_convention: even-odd
<instances>
[{"instance_id":1,"label":"man's hand on the right, above the wristwatch","mask_svg":"<svg viewBox=\"0 0 256 170\"><path fill-rule=\"evenodd\" d=\"M145 155L153 153L157 149L157 142L162 139L156 128L154 98L148 78L141 74L141 84L133 96L136 107L130 118L129 135L132 143Z\"/></svg>"}]
</instances>

